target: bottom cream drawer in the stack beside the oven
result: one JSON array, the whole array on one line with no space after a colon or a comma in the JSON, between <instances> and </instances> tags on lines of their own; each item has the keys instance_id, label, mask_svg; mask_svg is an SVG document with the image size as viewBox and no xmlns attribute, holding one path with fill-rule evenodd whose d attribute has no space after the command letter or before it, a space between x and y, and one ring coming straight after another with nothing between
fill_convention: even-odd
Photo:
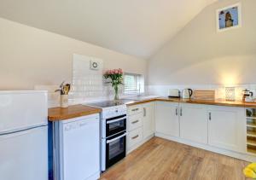
<instances>
[{"instance_id":1,"label":"bottom cream drawer in the stack beside the oven","mask_svg":"<svg viewBox=\"0 0 256 180\"><path fill-rule=\"evenodd\" d=\"M143 128L137 128L134 131L129 132L127 136L127 146L128 148L132 148L135 146L137 143L143 141Z\"/></svg>"}]
</instances>

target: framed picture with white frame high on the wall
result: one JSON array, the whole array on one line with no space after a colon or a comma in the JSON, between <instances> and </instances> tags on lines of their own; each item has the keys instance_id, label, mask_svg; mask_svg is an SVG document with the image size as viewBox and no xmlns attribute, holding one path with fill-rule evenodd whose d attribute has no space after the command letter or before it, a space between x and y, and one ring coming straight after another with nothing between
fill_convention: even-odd
<instances>
[{"instance_id":1,"label":"framed picture with white frame high on the wall","mask_svg":"<svg viewBox=\"0 0 256 180\"><path fill-rule=\"evenodd\" d=\"M241 3L236 3L216 11L217 32L241 27Z\"/></svg>"}]
</instances>

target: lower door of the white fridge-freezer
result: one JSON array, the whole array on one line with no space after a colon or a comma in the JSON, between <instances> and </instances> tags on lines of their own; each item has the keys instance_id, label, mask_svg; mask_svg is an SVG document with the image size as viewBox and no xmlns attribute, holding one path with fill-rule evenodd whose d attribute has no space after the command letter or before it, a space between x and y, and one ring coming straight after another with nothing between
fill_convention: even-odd
<instances>
[{"instance_id":1,"label":"lower door of the white fridge-freezer","mask_svg":"<svg viewBox=\"0 0 256 180\"><path fill-rule=\"evenodd\" d=\"M0 136L0 179L48 180L47 126Z\"/></svg>"}]
</instances>

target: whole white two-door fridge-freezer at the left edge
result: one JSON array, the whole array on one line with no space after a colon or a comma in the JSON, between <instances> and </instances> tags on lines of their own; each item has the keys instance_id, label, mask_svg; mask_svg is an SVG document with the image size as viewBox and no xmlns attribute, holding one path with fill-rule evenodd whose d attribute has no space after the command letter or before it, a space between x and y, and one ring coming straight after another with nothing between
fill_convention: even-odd
<instances>
[{"instance_id":1,"label":"whole white two-door fridge-freezer at the left edge","mask_svg":"<svg viewBox=\"0 0 256 180\"><path fill-rule=\"evenodd\" d=\"M46 91L0 91L0 179L48 179Z\"/></svg>"}]
</instances>

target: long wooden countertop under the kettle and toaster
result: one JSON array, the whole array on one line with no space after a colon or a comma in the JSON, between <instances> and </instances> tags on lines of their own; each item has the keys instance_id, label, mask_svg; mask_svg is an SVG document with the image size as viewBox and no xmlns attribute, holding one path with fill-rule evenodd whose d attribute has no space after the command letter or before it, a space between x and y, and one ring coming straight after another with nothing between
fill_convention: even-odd
<instances>
[{"instance_id":1,"label":"long wooden countertop under the kettle and toaster","mask_svg":"<svg viewBox=\"0 0 256 180\"><path fill-rule=\"evenodd\" d=\"M225 100L195 100L195 99L182 99L182 98L169 98L169 97L157 97L146 100L125 100L127 106L133 106L137 104L142 104L146 102L180 102L180 103L192 103L192 104L207 104L207 105L216 105L216 106L227 106L227 107L254 107L256 108L256 102L240 102L240 101L225 101Z\"/></svg>"}]
</instances>

